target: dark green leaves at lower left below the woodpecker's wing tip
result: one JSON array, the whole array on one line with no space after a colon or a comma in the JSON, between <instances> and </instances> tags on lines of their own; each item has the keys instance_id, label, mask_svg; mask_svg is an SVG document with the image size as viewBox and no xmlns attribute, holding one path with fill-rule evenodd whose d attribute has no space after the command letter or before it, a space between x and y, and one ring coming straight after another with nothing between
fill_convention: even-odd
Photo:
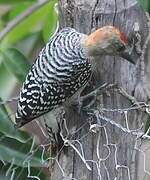
<instances>
[{"instance_id":1,"label":"dark green leaves at lower left below the woodpecker's wing tip","mask_svg":"<svg viewBox=\"0 0 150 180\"><path fill-rule=\"evenodd\" d=\"M0 160L7 164L13 161L15 167L22 168L47 166L46 161L42 162L42 149L31 136L14 128L4 105L0 106L0 123ZM43 158L47 158L46 154Z\"/></svg>"}]
</instances>

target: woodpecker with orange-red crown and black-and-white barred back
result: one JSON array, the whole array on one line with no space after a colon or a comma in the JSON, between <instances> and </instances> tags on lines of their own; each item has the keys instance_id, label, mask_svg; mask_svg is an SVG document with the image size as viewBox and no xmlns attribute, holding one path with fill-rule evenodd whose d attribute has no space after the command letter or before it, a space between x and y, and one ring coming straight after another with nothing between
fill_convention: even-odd
<instances>
[{"instance_id":1,"label":"woodpecker with orange-red crown and black-and-white barred back","mask_svg":"<svg viewBox=\"0 0 150 180\"><path fill-rule=\"evenodd\" d=\"M124 33L104 26L90 35L64 28L56 33L33 63L20 92L16 127L56 110L78 96L102 56L130 58Z\"/></svg>"}]
</instances>

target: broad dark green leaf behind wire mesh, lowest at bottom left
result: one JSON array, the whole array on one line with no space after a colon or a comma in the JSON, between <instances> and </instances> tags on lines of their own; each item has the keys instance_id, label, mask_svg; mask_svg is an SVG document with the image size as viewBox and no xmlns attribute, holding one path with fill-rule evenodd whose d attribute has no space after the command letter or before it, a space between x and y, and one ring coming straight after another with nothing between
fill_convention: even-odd
<instances>
[{"instance_id":1,"label":"broad dark green leaf behind wire mesh, lowest at bottom left","mask_svg":"<svg viewBox=\"0 0 150 180\"><path fill-rule=\"evenodd\" d=\"M47 163L42 162L42 150L37 146L32 147L32 141L21 143L9 137L1 135L0 156L4 161L20 166L28 167L28 162L31 167L46 167ZM47 158L46 154L44 159Z\"/></svg>"}]
</instances>

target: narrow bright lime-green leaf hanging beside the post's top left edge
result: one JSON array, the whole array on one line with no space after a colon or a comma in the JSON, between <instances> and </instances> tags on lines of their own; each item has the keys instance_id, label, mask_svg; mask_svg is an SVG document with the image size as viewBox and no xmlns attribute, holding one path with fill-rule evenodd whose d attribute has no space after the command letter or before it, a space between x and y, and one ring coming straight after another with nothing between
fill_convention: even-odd
<instances>
[{"instance_id":1,"label":"narrow bright lime-green leaf hanging beside the post's top left edge","mask_svg":"<svg viewBox=\"0 0 150 180\"><path fill-rule=\"evenodd\" d=\"M57 29L58 24L58 14L56 10L56 3L58 0L54 0L51 2L49 7L49 14L47 16L47 23L45 23L43 27L43 37L44 41L47 42L50 37L54 34Z\"/></svg>"}]
</instances>

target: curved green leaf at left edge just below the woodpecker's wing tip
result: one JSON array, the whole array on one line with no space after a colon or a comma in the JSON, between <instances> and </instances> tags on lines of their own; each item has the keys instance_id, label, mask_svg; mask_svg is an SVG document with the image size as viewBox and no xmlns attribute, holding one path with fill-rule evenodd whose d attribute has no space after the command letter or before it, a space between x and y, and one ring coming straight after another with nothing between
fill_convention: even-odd
<instances>
[{"instance_id":1,"label":"curved green leaf at left edge just below the woodpecker's wing tip","mask_svg":"<svg viewBox=\"0 0 150 180\"><path fill-rule=\"evenodd\" d=\"M2 99L0 98L0 102ZM0 105L0 132L5 134L8 137L17 139L20 142L26 142L29 139L29 135L23 131L16 130L14 124L10 119L10 115L4 105Z\"/></svg>"}]
</instances>

